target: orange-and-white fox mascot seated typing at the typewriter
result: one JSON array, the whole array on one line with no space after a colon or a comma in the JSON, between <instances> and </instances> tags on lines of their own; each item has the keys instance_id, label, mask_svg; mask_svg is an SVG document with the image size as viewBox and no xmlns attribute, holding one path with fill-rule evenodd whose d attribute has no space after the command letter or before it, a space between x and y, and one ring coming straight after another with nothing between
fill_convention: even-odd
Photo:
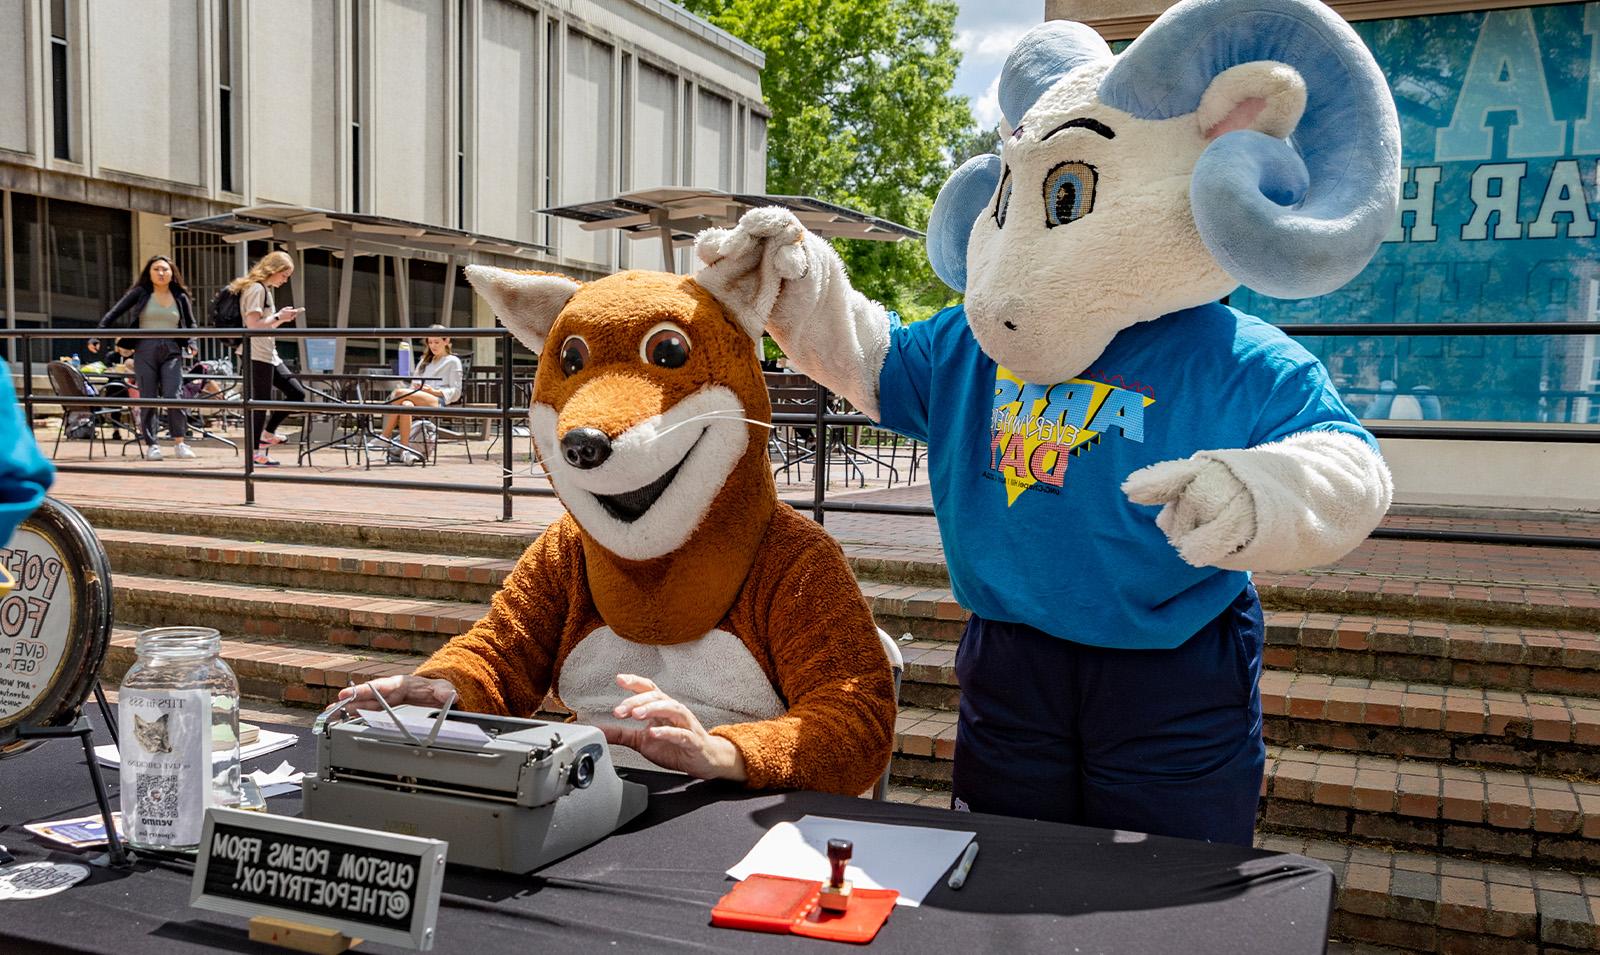
<instances>
[{"instance_id":1,"label":"orange-and-white fox mascot seated typing at the typewriter","mask_svg":"<svg viewBox=\"0 0 1600 955\"><path fill-rule=\"evenodd\" d=\"M467 278L544 354L530 422L566 515L488 616L378 691L510 715L554 693L670 769L867 790L893 677L838 544L778 502L760 325L659 272Z\"/></svg>"}]
</instances>

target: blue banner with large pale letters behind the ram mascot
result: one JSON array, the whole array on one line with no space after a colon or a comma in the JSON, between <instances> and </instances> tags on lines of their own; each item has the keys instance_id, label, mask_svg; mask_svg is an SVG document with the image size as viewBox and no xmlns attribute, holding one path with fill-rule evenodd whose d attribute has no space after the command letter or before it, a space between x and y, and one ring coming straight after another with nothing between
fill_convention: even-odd
<instances>
[{"instance_id":1,"label":"blue banner with large pale letters behind the ram mascot","mask_svg":"<svg viewBox=\"0 0 1600 955\"><path fill-rule=\"evenodd\" d=\"M1282 325L1600 320L1600 3L1352 26L1400 110L1398 221L1338 293L1230 304ZM1302 341L1366 418L1600 421L1597 336Z\"/></svg>"}]
</instances>

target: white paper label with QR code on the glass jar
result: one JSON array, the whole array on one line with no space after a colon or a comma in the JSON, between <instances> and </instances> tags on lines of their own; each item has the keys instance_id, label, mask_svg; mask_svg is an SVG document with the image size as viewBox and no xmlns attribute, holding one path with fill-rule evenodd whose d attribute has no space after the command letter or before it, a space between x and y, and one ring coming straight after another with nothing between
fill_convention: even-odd
<instances>
[{"instance_id":1,"label":"white paper label with QR code on the glass jar","mask_svg":"<svg viewBox=\"0 0 1600 955\"><path fill-rule=\"evenodd\" d=\"M211 792L211 693L123 688L117 725L128 841L200 845Z\"/></svg>"}]
</instances>

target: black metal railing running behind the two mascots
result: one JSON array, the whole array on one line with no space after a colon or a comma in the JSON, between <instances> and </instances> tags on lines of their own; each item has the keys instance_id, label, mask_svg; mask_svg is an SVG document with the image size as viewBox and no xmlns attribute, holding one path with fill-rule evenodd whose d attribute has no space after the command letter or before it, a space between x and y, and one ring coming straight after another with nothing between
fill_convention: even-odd
<instances>
[{"instance_id":1,"label":"black metal railing running behind the two mascots","mask_svg":"<svg viewBox=\"0 0 1600 955\"><path fill-rule=\"evenodd\" d=\"M1565 323L1565 322L1494 322L1494 323L1454 323L1454 325L1410 325L1410 323L1338 323L1338 325L1283 325L1280 326L1286 334L1296 338L1314 338L1314 336L1514 336L1514 334L1600 334L1600 328L1586 328L1586 323ZM194 328L182 330L178 336L182 338L205 338L205 339L251 339L251 338L414 338L421 331L418 328L275 328L275 330L232 330L232 328ZM142 331L142 330L115 330L115 338L178 338L173 331ZM21 339L75 339L83 338L85 330L16 330L8 333L8 338ZM512 499L514 497L554 497L554 488L522 488L512 485L512 429L514 424L522 419L528 410L514 405L514 373L512 373L512 352L514 339L510 333L504 328L451 328L450 338L493 338L499 342L499 408L461 408L461 406L413 406L406 414L413 418L485 418L499 421L501 429L501 480L498 485L478 485L478 483L450 483L440 485L432 481L418 480L387 480L387 478L344 478L331 475L304 475L304 474L282 474L267 472L262 474L256 470L251 456L245 454L245 467L242 475L232 470L163 470L162 475L186 477L186 478L213 478L213 480L237 480L243 478L245 483L245 502L254 504L256 501L256 483L304 483L304 485L333 485L333 486L363 486L363 488L392 488L392 489L408 489L408 491L466 491L474 494L499 494L501 496L501 520L512 520ZM34 424L34 405L40 402L40 397L34 394L34 371L32 371L32 355L30 349L22 349L22 405L27 413L27 422L32 429ZM482 366L480 366L482 368ZM394 413L394 405L389 403L344 403L344 402L318 402L314 408L307 408L302 402L272 402L258 400L251 395L251 376L250 363L243 362L242 368L242 395L240 402L218 402L218 400L202 400L202 398L115 398L107 400L106 397L93 398L67 398L59 395L48 395L46 403L61 405L62 408L78 408L78 406L104 406L107 403L115 403L128 408L218 408L242 411L245 418L246 429L251 421L251 413L254 411L290 411L290 413L355 413L355 414L371 414L378 411ZM784 499L786 504L798 509L810 510L818 523L822 523L829 512L834 513L877 513L877 515L901 515L901 517L933 517L934 510L928 504L891 504L891 502L875 502L875 501L829 501L827 499L827 475L829 475L829 430L834 427L877 427L872 419L864 414L856 413L835 413L829 411L829 398L832 397L821 384L814 384L816 389L816 411L811 414L797 413L779 413L773 414L774 426L800 426L816 429L814 454L813 462L813 489L810 499ZM1600 443L1600 429L1589 429L1582 426L1520 426L1520 427L1496 427L1496 426L1405 426L1405 424L1366 424L1366 429L1379 438L1421 438L1421 440L1470 440L1470 442L1541 442L1541 443L1579 443L1579 445L1595 445ZM107 466L83 466L83 464L58 464L58 470L69 474L115 474L126 475L126 469L107 467ZM1578 537L1565 534L1522 534L1522 533L1504 533L1504 531L1440 531L1426 528L1378 528L1371 534L1378 539L1400 539L1400 541L1435 541L1435 542L1462 542L1462 544L1512 544L1512 545L1544 545L1544 547L1578 547L1578 549L1595 549L1600 550L1600 537Z\"/></svg>"}]
</instances>

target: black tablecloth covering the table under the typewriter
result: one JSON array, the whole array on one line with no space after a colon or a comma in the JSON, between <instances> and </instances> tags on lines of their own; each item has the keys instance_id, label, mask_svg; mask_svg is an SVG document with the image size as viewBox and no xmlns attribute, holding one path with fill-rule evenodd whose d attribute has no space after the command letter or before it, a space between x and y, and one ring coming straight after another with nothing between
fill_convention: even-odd
<instances>
[{"instance_id":1,"label":"black tablecloth covering the table under the typewriter","mask_svg":"<svg viewBox=\"0 0 1600 955\"><path fill-rule=\"evenodd\" d=\"M290 729L290 728L280 728ZM315 763L309 733L246 763ZM102 742L109 742L102 739ZM453 869L435 952L827 952L837 942L712 928L725 870L776 822L824 814L978 832L962 891L942 880L918 909L899 907L872 942L882 952L1322 952L1333 901L1326 865L1187 840L957 814L813 792L750 793L666 774L634 774L656 792L610 838L536 875ZM107 776L115 793L115 773ZM294 814L298 795L269 800ZM112 797L115 808L115 795ZM0 845L29 862L83 862L22 822L82 816L94 797L77 741L0 761ZM277 952L250 942L245 918L189 907L190 867L139 861L96 867L88 881L0 902L0 952ZM400 952L363 942L358 952Z\"/></svg>"}]
</instances>

